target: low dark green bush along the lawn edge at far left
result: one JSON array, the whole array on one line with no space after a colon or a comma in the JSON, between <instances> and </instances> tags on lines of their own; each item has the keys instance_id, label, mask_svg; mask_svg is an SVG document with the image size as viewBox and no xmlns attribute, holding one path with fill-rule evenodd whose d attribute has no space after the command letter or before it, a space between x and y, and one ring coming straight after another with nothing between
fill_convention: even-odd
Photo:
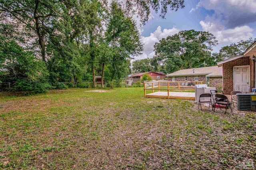
<instances>
[{"instance_id":1,"label":"low dark green bush along the lawn edge at far left","mask_svg":"<svg viewBox=\"0 0 256 170\"><path fill-rule=\"evenodd\" d=\"M42 82L30 82L29 80L18 80L14 83L14 86L10 88L11 91L25 92L25 95L45 93L49 89L56 87L51 86L48 83Z\"/></svg>"}]
</instances>

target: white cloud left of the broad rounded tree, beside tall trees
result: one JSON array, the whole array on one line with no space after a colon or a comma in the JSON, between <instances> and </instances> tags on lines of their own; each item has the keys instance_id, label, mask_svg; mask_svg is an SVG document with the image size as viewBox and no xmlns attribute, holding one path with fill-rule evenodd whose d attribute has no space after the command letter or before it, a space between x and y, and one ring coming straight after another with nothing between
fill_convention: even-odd
<instances>
[{"instance_id":1,"label":"white cloud left of the broad rounded tree, beside tall trees","mask_svg":"<svg viewBox=\"0 0 256 170\"><path fill-rule=\"evenodd\" d=\"M155 55L154 52L154 45L155 43L158 43L162 38L166 38L169 35L174 35L178 33L180 30L176 27L173 27L171 29L163 29L158 26L156 31L153 33L150 33L150 36L148 37L141 37L142 43L144 44L144 51L142 55L136 57L135 59L146 59L146 58L152 58Z\"/></svg>"}]
</instances>

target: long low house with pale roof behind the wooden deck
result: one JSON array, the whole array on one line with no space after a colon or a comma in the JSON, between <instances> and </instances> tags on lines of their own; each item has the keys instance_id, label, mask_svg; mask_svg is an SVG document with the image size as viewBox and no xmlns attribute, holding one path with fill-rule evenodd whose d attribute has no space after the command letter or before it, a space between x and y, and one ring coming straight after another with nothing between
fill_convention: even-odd
<instances>
[{"instance_id":1,"label":"long low house with pale roof behind the wooden deck","mask_svg":"<svg viewBox=\"0 0 256 170\"><path fill-rule=\"evenodd\" d=\"M202 81L210 87L222 88L222 67L218 66L178 70L166 77L172 82Z\"/></svg>"}]
</instances>

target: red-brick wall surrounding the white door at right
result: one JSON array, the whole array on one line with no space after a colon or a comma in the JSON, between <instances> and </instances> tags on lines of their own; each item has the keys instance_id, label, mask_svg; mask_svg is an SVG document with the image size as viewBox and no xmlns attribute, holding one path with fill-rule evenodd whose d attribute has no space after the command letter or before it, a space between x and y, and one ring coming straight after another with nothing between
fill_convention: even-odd
<instances>
[{"instance_id":1,"label":"red-brick wall surrounding the white door at right","mask_svg":"<svg viewBox=\"0 0 256 170\"><path fill-rule=\"evenodd\" d=\"M240 59L236 59L222 65L223 72L223 92L224 94L230 94L233 91L233 67L234 66L246 66L250 65L250 88L254 86L254 66L253 63L250 62L250 57L241 57Z\"/></svg>"}]
</instances>

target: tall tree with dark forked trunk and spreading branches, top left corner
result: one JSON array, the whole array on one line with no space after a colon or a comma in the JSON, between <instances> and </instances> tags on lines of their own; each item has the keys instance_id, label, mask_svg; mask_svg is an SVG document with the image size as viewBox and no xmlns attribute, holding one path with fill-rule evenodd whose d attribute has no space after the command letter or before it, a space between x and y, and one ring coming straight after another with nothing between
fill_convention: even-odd
<instances>
[{"instance_id":1,"label":"tall tree with dark forked trunk and spreading branches, top left corner","mask_svg":"<svg viewBox=\"0 0 256 170\"><path fill-rule=\"evenodd\" d=\"M56 30L52 27L52 23L62 16L63 8L64 4L55 0L0 0L0 12L23 23L30 31L36 33L44 62L46 62L46 39L54 36Z\"/></svg>"}]
</instances>

